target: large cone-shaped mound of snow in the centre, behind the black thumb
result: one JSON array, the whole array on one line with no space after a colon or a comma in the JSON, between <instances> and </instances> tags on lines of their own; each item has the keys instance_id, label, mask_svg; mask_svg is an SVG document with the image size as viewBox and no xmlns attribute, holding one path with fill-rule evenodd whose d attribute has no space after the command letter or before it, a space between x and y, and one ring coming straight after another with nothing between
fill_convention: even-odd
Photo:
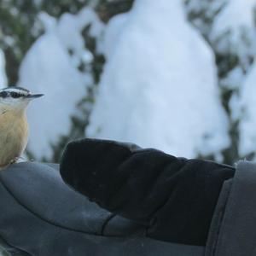
<instances>
[{"instance_id":1,"label":"large cone-shaped mound of snow in the centre, behind the black thumb","mask_svg":"<svg viewBox=\"0 0 256 256\"><path fill-rule=\"evenodd\" d=\"M185 157L219 156L229 146L212 50L189 26L182 1L136 1L110 20L104 46L87 136Z\"/></svg>"}]
</instances>

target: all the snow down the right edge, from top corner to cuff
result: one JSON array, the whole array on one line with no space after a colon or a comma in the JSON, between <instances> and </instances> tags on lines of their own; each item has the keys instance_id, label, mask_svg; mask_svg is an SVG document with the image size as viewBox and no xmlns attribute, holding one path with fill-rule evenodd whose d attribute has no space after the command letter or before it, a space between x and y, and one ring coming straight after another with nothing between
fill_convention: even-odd
<instances>
[{"instance_id":1,"label":"all the snow down the right edge, from top corner to cuff","mask_svg":"<svg viewBox=\"0 0 256 256\"><path fill-rule=\"evenodd\" d=\"M214 20L212 28L218 52L238 56L239 60L221 83L236 90L230 100L230 109L231 119L239 121L240 157L256 152L256 64L251 66L256 53L255 9L256 0L230 0Z\"/></svg>"}]
</instances>

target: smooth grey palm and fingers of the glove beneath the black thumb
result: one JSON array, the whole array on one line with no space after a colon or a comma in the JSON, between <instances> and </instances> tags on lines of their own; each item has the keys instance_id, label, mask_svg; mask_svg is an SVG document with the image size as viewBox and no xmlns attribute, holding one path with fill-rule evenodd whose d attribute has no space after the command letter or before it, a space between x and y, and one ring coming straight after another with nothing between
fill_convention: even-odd
<instances>
[{"instance_id":1,"label":"smooth grey palm and fingers of the glove beneath the black thumb","mask_svg":"<svg viewBox=\"0 0 256 256\"><path fill-rule=\"evenodd\" d=\"M146 237L143 225L69 188L58 169L27 162L0 172L0 247L9 255L203 255L204 247Z\"/></svg>"}]
</instances>

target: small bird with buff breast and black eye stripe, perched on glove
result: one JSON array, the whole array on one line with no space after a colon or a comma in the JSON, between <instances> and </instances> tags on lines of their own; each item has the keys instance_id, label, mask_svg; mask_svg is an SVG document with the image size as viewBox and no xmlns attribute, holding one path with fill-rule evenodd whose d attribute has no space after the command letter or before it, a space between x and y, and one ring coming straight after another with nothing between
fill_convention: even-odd
<instances>
[{"instance_id":1,"label":"small bird with buff breast and black eye stripe, perched on glove","mask_svg":"<svg viewBox=\"0 0 256 256\"><path fill-rule=\"evenodd\" d=\"M28 141L26 107L44 94L9 86L0 90L0 170L15 163L24 152Z\"/></svg>"}]
</instances>

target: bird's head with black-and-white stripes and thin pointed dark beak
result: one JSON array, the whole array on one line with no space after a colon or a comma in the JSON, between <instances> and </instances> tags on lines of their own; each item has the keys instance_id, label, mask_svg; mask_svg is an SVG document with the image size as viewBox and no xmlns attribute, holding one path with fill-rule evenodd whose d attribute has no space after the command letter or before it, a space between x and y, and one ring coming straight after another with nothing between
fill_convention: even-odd
<instances>
[{"instance_id":1,"label":"bird's head with black-and-white stripes and thin pointed dark beak","mask_svg":"<svg viewBox=\"0 0 256 256\"><path fill-rule=\"evenodd\" d=\"M21 87L6 87L0 90L0 109L23 111L31 100L44 94L32 94Z\"/></svg>"}]
</instances>

